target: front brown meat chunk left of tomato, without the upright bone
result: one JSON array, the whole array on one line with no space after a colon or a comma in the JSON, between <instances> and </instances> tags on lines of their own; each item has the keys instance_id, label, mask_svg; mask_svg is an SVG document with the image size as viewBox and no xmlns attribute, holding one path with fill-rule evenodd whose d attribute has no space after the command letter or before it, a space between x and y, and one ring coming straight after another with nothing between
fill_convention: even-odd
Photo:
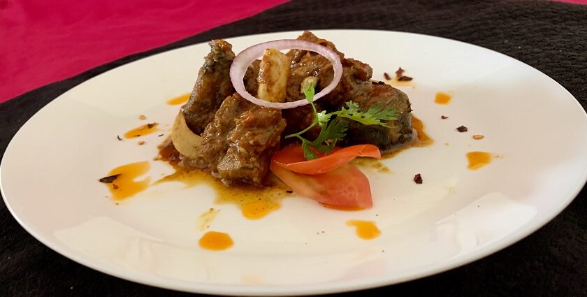
<instances>
[{"instance_id":1,"label":"front brown meat chunk left of tomato, without the upright bone","mask_svg":"<svg viewBox=\"0 0 587 297\"><path fill-rule=\"evenodd\" d=\"M262 185L285 127L280 110L261 108L238 94L226 98L203 136L203 157L225 184Z\"/></svg>"}]
</instances>

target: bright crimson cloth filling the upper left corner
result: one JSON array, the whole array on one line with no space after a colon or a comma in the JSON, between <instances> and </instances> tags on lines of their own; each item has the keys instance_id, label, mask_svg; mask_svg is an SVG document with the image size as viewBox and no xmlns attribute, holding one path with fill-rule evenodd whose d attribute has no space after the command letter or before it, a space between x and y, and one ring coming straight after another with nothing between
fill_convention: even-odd
<instances>
[{"instance_id":1,"label":"bright crimson cloth filling the upper left corner","mask_svg":"<svg viewBox=\"0 0 587 297\"><path fill-rule=\"evenodd\" d=\"M0 103L287 0L0 0Z\"/></svg>"}]
</instances>

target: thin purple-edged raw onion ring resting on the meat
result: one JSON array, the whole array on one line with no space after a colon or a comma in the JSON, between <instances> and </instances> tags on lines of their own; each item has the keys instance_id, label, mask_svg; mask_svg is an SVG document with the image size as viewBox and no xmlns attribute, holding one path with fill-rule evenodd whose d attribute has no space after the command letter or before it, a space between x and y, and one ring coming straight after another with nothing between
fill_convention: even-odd
<instances>
[{"instance_id":1,"label":"thin purple-edged raw onion ring resting on the meat","mask_svg":"<svg viewBox=\"0 0 587 297\"><path fill-rule=\"evenodd\" d=\"M259 43L257 45L246 48L238 55L236 55L233 64L231 65L231 81L233 83L234 89L236 92L238 92L238 94L240 94L240 96L242 96L242 98L247 99L248 101L251 101L258 106L287 109L298 106L305 106L306 104L310 103L305 99L286 103L269 102L258 99L247 92L247 89L245 89L245 82L243 82L247 68L249 68L249 65L252 64L256 59L261 57L263 55L263 51L268 48L275 48L276 50L309 50L311 52L317 52L328 59L328 61L331 61L334 68L334 77L332 82L330 85L322 89L318 94L314 95L314 101L332 92L332 90L338 85L338 82L340 81L342 76L342 64L340 64L340 57L338 57L336 52L326 48L325 46L312 43L310 41L300 41L297 39L281 39L277 41Z\"/></svg>"}]
</instances>

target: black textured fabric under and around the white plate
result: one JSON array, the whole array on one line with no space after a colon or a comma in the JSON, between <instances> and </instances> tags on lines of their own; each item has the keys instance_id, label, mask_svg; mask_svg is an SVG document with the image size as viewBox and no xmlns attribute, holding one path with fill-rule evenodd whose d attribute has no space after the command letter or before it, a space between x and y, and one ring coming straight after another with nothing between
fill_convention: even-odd
<instances>
[{"instance_id":1,"label":"black textured fabric under and around the white plate","mask_svg":"<svg viewBox=\"0 0 587 297\"><path fill-rule=\"evenodd\" d=\"M34 113L94 75L212 38L303 29L409 31L480 45L546 73L581 106L587 106L587 6L546 1L293 1L1 104L0 154ZM0 203L0 240L0 296L188 295L119 280L81 266L32 238L4 203ZM552 222L500 252L439 275L360 294L587 296L587 191L584 188Z\"/></svg>"}]
</instances>

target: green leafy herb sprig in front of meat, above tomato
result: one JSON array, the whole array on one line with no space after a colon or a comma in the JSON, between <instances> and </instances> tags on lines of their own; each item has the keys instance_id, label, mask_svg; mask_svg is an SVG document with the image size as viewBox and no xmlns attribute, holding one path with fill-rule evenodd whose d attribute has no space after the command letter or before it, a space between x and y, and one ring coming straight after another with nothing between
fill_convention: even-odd
<instances>
[{"instance_id":1,"label":"green leafy herb sprig in front of meat, above tomato","mask_svg":"<svg viewBox=\"0 0 587 297\"><path fill-rule=\"evenodd\" d=\"M389 127L385 122L397 119L397 112L393 108L382 108L381 104L377 103L371 106L366 112L362 112L356 102L347 101L347 107L341 110L326 113L326 111L317 112L314 105L314 84L310 82L303 89L305 99L310 102L312 110L314 111L314 121L310 126L298 133L289 134L285 138L297 137L302 141L302 148L304 150L304 157L308 160L316 159L317 156L312 152L310 147L313 147L319 152L332 152L336 142L342 140L346 136L348 122L341 120L342 118L351 119L364 125L379 125ZM303 133L310 131L314 126L320 126L320 133L314 140L307 140L302 136Z\"/></svg>"}]
</instances>

